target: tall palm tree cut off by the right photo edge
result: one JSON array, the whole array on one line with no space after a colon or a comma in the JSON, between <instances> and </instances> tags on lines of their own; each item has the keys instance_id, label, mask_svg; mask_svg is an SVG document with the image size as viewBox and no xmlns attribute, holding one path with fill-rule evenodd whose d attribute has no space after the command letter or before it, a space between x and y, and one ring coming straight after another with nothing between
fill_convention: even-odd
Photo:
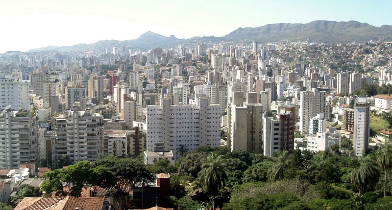
<instances>
[{"instance_id":1,"label":"tall palm tree cut off by the right photo edge","mask_svg":"<svg viewBox=\"0 0 392 210\"><path fill-rule=\"evenodd\" d=\"M384 171L384 197L387 196L387 174L392 169L392 144L386 142L378 150L377 164Z\"/></svg>"}]
</instances>

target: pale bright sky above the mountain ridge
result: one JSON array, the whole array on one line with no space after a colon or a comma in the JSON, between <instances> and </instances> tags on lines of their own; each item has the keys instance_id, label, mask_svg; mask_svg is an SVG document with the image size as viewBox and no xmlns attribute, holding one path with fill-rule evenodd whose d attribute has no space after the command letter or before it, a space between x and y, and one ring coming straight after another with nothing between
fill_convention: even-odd
<instances>
[{"instance_id":1,"label":"pale bright sky above the mountain ridge","mask_svg":"<svg viewBox=\"0 0 392 210\"><path fill-rule=\"evenodd\" d=\"M0 53L49 45L224 36L239 27L316 20L392 25L392 0L0 0Z\"/></svg>"}]
</instances>

